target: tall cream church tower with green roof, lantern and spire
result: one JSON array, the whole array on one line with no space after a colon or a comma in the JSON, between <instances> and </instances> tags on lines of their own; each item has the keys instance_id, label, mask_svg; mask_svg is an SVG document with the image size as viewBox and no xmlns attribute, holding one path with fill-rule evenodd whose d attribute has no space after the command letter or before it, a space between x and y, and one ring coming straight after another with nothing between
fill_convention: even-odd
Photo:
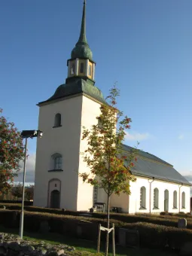
<instances>
[{"instance_id":1,"label":"tall cream church tower with green roof, lantern and spire","mask_svg":"<svg viewBox=\"0 0 192 256\"><path fill-rule=\"evenodd\" d=\"M87 148L81 140L82 127L96 124L99 107L105 103L94 81L96 63L87 44L85 1L80 37L67 66L66 84L38 103L38 129L44 136L37 141L34 205L81 211L93 206L93 187L78 175L89 172L81 155Z\"/></svg>"}]
</instances>

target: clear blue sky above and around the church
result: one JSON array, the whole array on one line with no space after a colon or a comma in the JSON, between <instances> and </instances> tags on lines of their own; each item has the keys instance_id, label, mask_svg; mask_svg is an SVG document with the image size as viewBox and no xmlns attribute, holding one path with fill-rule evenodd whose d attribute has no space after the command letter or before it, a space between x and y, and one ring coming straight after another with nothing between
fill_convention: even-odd
<instances>
[{"instance_id":1,"label":"clear blue sky above and around the church","mask_svg":"<svg viewBox=\"0 0 192 256\"><path fill-rule=\"evenodd\" d=\"M0 2L0 107L20 130L38 126L36 104L67 75L83 0ZM192 1L87 0L96 86L133 119L126 144L166 160L192 181ZM35 161L29 142L28 169Z\"/></svg>"}]
</instances>

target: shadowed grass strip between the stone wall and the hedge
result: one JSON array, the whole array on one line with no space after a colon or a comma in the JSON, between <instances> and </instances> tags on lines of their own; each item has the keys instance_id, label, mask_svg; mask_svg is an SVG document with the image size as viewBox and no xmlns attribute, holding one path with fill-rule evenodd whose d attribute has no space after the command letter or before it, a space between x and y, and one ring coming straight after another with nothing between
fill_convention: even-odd
<instances>
[{"instance_id":1,"label":"shadowed grass strip between the stone wall and the hedge","mask_svg":"<svg viewBox=\"0 0 192 256\"><path fill-rule=\"evenodd\" d=\"M0 226L0 232L2 233L14 233L18 234L19 230L17 229L8 229ZM101 254L96 254L96 242L91 242L83 239L75 239L67 236L62 236L57 233L29 233L24 231L24 239L32 240L44 240L44 242L50 244L66 244L69 246L74 246L75 251L71 252L72 256L92 256L92 255L103 255L105 251L105 245L101 245ZM111 245L109 245L111 249ZM112 256L112 254L109 254ZM122 248L116 246L116 256L175 256L174 253L169 253L166 251L157 251L150 249L131 249L131 248Z\"/></svg>"}]
</instances>

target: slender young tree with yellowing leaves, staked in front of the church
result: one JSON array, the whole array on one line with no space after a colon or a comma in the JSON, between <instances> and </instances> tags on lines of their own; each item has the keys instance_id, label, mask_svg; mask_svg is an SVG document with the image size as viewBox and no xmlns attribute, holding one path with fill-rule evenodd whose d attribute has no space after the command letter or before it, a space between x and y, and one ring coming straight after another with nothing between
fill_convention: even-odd
<instances>
[{"instance_id":1,"label":"slender young tree with yellowing leaves, staked in front of the church","mask_svg":"<svg viewBox=\"0 0 192 256\"><path fill-rule=\"evenodd\" d=\"M136 148L125 154L122 142L130 129L131 119L123 117L117 109L116 98L119 90L114 86L106 98L109 104L101 105L98 123L90 129L83 127L83 140L87 140L87 149L83 152L84 161L90 167L90 173L80 176L84 182L105 190L108 198L108 224L110 227L109 203L111 194L130 194L130 181L136 181L130 170L136 159ZM106 235L105 255L108 255L108 232Z\"/></svg>"}]
</instances>

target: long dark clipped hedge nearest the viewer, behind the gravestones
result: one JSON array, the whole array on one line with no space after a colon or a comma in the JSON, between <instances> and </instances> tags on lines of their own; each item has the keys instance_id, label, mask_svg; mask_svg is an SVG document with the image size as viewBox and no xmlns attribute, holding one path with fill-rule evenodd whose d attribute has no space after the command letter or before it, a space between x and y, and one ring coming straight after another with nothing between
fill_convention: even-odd
<instances>
[{"instance_id":1,"label":"long dark clipped hedge nearest the viewer, behind the gravestones","mask_svg":"<svg viewBox=\"0 0 192 256\"><path fill-rule=\"evenodd\" d=\"M60 233L62 235L77 237L77 229L82 228L81 238L96 241L98 224L106 227L106 220L99 218L84 218L72 215L53 215L49 213L25 212L24 231L41 232L41 222L47 221L50 226L50 232ZM0 224L5 227L19 227L20 212L0 210ZM184 243L192 241L192 230L183 230L175 227L166 227L146 222L123 223L111 219L115 224L116 242L118 242L118 230L120 227L139 230L140 246L142 248L181 248ZM105 233L102 232L101 239L105 239Z\"/></svg>"}]
</instances>

